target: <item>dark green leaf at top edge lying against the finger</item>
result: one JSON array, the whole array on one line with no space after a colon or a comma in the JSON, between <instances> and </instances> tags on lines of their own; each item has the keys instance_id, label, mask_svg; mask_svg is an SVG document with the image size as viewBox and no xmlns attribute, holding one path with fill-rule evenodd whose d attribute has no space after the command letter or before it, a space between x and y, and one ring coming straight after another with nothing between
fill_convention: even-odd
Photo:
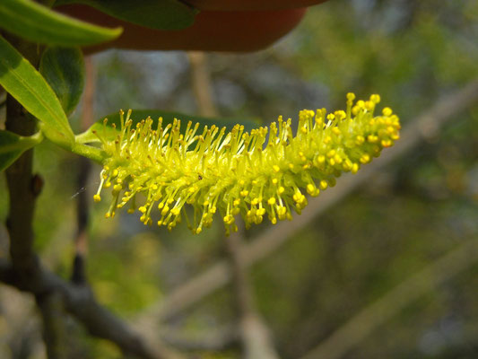
<instances>
[{"instance_id":1,"label":"dark green leaf at top edge lying against the finger","mask_svg":"<svg viewBox=\"0 0 478 359\"><path fill-rule=\"evenodd\" d=\"M57 4L87 4L117 19L157 30L187 28L197 13L178 0L57 0Z\"/></svg>"}]
</instances>

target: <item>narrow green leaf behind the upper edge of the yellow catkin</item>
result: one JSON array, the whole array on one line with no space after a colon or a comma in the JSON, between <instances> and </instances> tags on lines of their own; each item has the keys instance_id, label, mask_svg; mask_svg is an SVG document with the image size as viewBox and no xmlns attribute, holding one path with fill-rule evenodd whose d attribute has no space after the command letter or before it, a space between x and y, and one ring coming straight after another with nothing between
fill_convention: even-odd
<instances>
[{"instance_id":1,"label":"narrow green leaf behind the upper edge of the yellow catkin","mask_svg":"<svg viewBox=\"0 0 478 359\"><path fill-rule=\"evenodd\" d=\"M126 114L125 114L126 116ZM184 113L179 112L169 112L163 111L161 109L134 109L131 115L133 120L133 125L137 124L144 118L151 117L153 119L153 127L157 125L158 118L162 118L163 127L174 121L174 118L181 120L183 128L186 128L187 121L191 120L193 123L199 122L202 126L207 125L211 127L213 125L218 127L226 127L228 130L232 129L234 125L240 124L243 125L245 131L250 131L253 128L258 126L256 121L252 120L243 120L243 119L233 119L233 118L204 118L201 116L191 116L185 115ZM114 113L107 116L108 122L107 126L103 125L103 119L95 122L90 128L88 128L83 134L76 136L76 141L81 144L100 142L97 136L93 134L93 131L97 131L100 136L105 137L106 140L113 141L116 139L119 128L121 128L121 120L119 113ZM113 127L115 124L116 127Z\"/></svg>"}]
</instances>

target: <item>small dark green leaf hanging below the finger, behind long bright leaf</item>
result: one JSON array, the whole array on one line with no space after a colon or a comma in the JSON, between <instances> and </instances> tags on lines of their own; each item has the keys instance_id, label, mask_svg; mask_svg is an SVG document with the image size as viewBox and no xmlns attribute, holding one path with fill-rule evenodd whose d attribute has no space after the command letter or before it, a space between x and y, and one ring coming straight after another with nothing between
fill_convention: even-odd
<instances>
[{"instance_id":1,"label":"small dark green leaf hanging below the finger, behind long bright leaf","mask_svg":"<svg viewBox=\"0 0 478 359\"><path fill-rule=\"evenodd\" d=\"M39 72L56 93L65 113L72 113L80 101L84 84L80 48L47 48L41 55Z\"/></svg>"}]
</instances>

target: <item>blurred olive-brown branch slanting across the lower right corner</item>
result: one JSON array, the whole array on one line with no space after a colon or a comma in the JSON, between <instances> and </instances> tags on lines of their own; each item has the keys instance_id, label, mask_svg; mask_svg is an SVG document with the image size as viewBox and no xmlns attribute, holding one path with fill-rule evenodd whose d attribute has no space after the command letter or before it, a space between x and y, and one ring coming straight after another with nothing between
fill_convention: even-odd
<instances>
[{"instance_id":1,"label":"blurred olive-brown branch slanting across the lower right corner","mask_svg":"<svg viewBox=\"0 0 478 359\"><path fill-rule=\"evenodd\" d=\"M359 311L302 359L338 359L411 302L478 261L478 239L465 241Z\"/></svg>"}]
</instances>

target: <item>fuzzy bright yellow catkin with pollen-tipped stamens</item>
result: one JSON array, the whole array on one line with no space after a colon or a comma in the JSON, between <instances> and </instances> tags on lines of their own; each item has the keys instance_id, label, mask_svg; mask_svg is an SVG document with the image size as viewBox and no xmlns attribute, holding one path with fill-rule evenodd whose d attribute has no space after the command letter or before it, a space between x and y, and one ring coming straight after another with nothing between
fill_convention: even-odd
<instances>
[{"instance_id":1,"label":"fuzzy bright yellow catkin with pollen-tipped stamens","mask_svg":"<svg viewBox=\"0 0 478 359\"><path fill-rule=\"evenodd\" d=\"M177 119L162 127L160 118L153 129L152 119L146 118L132 128L129 114L126 121L121 116L116 141L99 136L109 158L94 199L100 201L101 189L112 187L106 217L128 205L129 213L141 213L144 224L154 218L170 230L184 215L194 233L209 227L216 212L227 234L237 231L237 215L247 227L261 223L265 215L272 223L290 220L292 209L300 214L307 206L305 192L318 196L343 172L359 171L399 138L400 123L392 109L374 117L378 95L369 101L354 99L347 94L345 111L301 110L295 136L291 119L282 117L270 129L249 134L236 125L226 134L225 128L214 126L198 132L199 124L190 121L181 132ZM136 206L138 194L145 197L142 206ZM192 221L187 205L194 210Z\"/></svg>"}]
</instances>

